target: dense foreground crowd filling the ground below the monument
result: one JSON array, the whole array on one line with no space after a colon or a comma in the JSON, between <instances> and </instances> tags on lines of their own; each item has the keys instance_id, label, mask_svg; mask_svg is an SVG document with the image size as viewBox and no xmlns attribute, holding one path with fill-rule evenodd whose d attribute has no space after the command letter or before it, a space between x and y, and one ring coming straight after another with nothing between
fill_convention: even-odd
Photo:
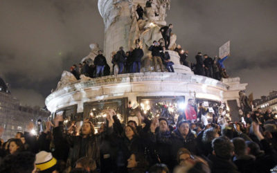
<instances>
[{"instance_id":1,"label":"dense foreground crowd filling the ground below the monument","mask_svg":"<svg viewBox=\"0 0 277 173\"><path fill-rule=\"evenodd\" d=\"M62 116L46 122L39 136L18 132L1 143L0 172L270 172L277 165L270 110L246 113L241 122L220 116L206 125L186 115L169 125L139 111L139 123L125 125L114 110L105 113L97 133L89 120L80 131L74 123L64 127Z\"/></svg>"}]
</instances>

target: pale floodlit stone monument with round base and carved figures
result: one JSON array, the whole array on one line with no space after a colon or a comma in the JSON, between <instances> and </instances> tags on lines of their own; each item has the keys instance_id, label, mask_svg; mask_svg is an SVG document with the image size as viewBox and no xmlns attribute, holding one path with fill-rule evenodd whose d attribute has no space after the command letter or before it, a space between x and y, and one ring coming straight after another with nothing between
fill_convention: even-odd
<instances>
[{"instance_id":1,"label":"pale floodlit stone monument with round base and carved figures","mask_svg":"<svg viewBox=\"0 0 277 173\"><path fill-rule=\"evenodd\" d=\"M138 4L145 12L143 19L139 20L136 14ZM134 48L135 42L143 47L143 60L149 60L151 53L148 48L154 40L163 38L160 28L167 25L166 10L170 9L170 1L153 0L147 7L145 4L146 0L98 0L98 9L105 24L104 53L109 66L112 66L111 54L114 51L118 51L120 46L129 51ZM188 99L193 98L211 103L226 103L231 110L232 120L238 120L239 91L245 90L247 84L240 84L240 78L218 81L194 75L190 68L180 64L178 53L171 51L176 46L177 35L172 34L170 41L168 52L174 62L175 73L143 69L141 73L101 78L81 76L80 80L76 80L73 75L64 72L57 89L46 98L48 110L53 116L62 111L65 116L88 118L96 115L98 109L114 108L127 121L129 103L138 102L140 108L148 109L150 105L145 106L144 103L151 100L168 100L165 102L176 105L180 100L187 103ZM83 60L92 62L100 48L98 44L91 44L90 47L91 53Z\"/></svg>"}]
</instances>

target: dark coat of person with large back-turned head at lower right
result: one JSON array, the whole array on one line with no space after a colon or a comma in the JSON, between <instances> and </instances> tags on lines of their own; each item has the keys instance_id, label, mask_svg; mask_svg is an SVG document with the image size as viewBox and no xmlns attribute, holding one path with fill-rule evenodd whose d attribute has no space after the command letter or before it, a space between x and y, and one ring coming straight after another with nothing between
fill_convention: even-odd
<instances>
[{"instance_id":1,"label":"dark coat of person with large back-turned head at lower right","mask_svg":"<svg viewBox=\"0 0 277 173\"><path fill-rule=\"evenodd\" d=\"M218 158L213 154L208 156L208 159L212 162L212 173L238 173L238 167L231 160Z\"/></svg>"}]
</instances>

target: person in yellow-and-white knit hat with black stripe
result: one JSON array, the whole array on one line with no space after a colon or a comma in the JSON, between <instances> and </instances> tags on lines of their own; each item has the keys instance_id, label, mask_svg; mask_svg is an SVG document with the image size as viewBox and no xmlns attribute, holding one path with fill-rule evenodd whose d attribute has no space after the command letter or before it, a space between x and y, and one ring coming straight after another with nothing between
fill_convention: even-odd
<instances>
[{"instance_id":1,"label":"person in yellow-and-white knit hat with black stripe","mask_svg":"<svg viewBox=\"0 0 277 173\"><path fill-rule=\"evenodd\" d=\"M35 155L35 167L41 173L54 173L56 171L57 160L51 152L39 152Z\"/></svg>"}]
</instances>

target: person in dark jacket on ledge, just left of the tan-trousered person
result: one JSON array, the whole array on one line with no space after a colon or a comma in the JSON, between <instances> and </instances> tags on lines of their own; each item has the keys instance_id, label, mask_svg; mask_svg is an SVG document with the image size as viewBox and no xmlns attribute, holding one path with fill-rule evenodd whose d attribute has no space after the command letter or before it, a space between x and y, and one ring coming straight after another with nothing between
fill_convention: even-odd
<instances>
[{"instance_id":1,"label":"person in dark jacket on ledge, just left of the tan-trousered person","mask_svg":"<svg viewBox=\"0 0 277 173\"><path fill-rule=\"evenodd\" d=\"M139 73L141 71L141 58L143 55L143 50L140 48L139 44L136 44L136 48L132 51L132 73Z\"/></svg>"}]
</instances>

